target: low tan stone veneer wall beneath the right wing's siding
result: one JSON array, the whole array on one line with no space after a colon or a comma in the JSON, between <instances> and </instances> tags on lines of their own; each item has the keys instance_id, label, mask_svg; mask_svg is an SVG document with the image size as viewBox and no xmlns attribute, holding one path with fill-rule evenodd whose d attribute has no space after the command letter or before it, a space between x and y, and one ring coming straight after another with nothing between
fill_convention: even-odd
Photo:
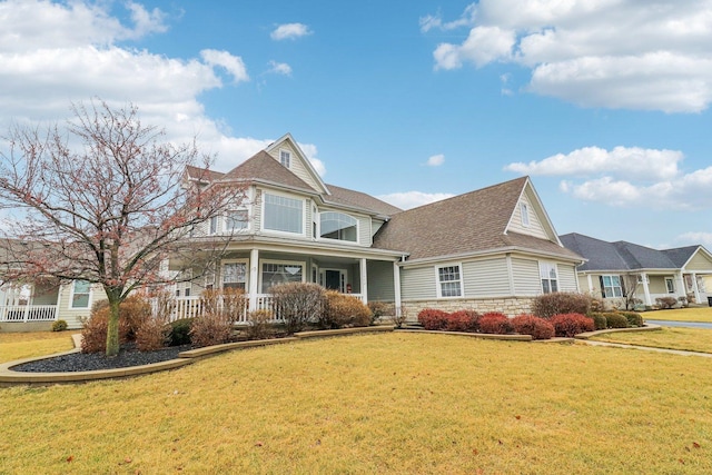
<instances>
[{"instance_id":1,"label":"low tan stone veneer wall beneath the right wing's siding","mask_svg":"<svg viewBox=\"0 0 712 475\"><path fill-rule=\"evenodd\" d=\"M516 317L532 311L534 298L503 297L503 298L462 298L439 300L408 300L403 307L408 313L408 321L418 319L418 311L424 308L437 308L443 311L475 310L479 314L501 311L508 317Z\"/></svg>"}]
</instances>

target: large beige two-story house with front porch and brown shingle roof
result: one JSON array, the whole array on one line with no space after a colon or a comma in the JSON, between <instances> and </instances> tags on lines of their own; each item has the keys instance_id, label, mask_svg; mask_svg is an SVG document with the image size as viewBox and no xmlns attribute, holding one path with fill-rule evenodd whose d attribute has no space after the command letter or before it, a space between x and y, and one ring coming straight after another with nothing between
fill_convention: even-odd
<instances>
[{"instance_id":1,"label":"large beige two-story house with front porch and brown shingle roof","mask_svg":"<svg viewBox=\"0 0 712 475\"><path fill-rule=\"evenodd\" d=\"M175 318L199 314L205 289L240 288L249 309L270 308L270 287L288 281L393 303L411 319L425 307L514 316L542 293L577 290L583 259L558 240L526 177L404 211L326 185L285 135L226 174L189 167L185 186L240 186L245 199L192 230L196 243L226 243L226 254L174 286ZM164 271L179 268L168 260ZM41 303L73 328L95 294L76 281ZM36 307L44 294L7 295L14 311L14 304Z\"/></svg>"}]
</instances>

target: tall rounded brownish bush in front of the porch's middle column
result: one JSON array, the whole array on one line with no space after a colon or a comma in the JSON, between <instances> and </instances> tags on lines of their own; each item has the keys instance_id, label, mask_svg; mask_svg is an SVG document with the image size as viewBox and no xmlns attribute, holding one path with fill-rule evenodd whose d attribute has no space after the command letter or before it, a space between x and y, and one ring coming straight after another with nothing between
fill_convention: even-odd
<instances>
[{"instance_id":1,"label":"tall rounded brownish bush in front of the porch's middle column","mask_svg":"<svg viewBox=\"0 0 712 475\"><path fill-rule=\"evenodd\" d=\"M275 310L285 320L288 334L300 331L307 321L318 320L324 311L326 291L317 284L288 283L270 288Z\"/></svg>"}]
</instances>

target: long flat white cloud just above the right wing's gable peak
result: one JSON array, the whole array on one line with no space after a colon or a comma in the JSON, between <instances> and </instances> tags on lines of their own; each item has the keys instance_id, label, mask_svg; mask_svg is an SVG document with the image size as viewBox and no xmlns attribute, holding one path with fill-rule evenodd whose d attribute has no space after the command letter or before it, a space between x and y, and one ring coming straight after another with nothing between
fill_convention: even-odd
<instances>
[{"instance_id":1,"label":"long flat white cloud just above the right wing's gable peak","mask_svg":"<svg viewBox=\"0 0 712 475\"><path fill-rule=\"evenodd\" d=\"M615 147L605 150L584 147L570 154L556 154L541 161L510 164L505 170L522 175L590 176L609 174L634 177L637 180L664 180L678 175L678 164L684 158L678 150L640 147Z\"/></svg>"}]
</instances>

